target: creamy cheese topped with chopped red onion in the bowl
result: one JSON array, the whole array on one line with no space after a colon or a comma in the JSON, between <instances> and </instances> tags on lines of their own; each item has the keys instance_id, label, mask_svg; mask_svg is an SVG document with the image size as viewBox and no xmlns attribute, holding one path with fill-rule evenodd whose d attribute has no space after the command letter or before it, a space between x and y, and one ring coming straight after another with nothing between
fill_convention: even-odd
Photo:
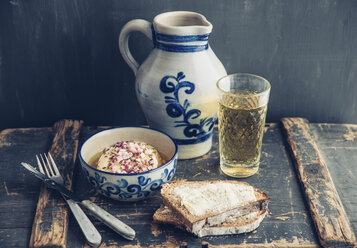
<instances>
[{"instance_id":1,"label":"creamy cheese topped with chopped red onion in the bowl","mask_svg":"<svg viewBox=\"0 0 357 248\"><path fill-rule=\"evenodd\" d=\"M166 162L155 147L131 140L106 147L89 164L102 171L130 174L153 170Z\"/></svg>"}]
</instances>

